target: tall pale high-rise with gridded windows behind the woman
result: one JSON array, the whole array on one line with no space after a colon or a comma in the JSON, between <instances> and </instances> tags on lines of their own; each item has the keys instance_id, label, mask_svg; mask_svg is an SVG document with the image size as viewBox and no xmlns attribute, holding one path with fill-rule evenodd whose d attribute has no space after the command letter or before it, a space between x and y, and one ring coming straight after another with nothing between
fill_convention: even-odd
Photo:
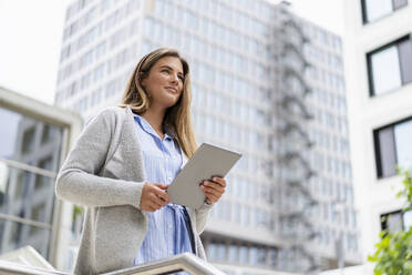
<instances>
[{"instance_id":1,"label":"tall pale high-rise with gridded windows behind the woman","mask_svg":"<svg viewBox=\"0 0 412 275\"><path fill-rule=\"evenodd\" d=\"M85 120L116 104L159 47L190 64L198 143L244 154L203 234L209 261L239 275L359 263L340 38L265 0L78 0L55 104Z\"/></svg>"}]
</instances>

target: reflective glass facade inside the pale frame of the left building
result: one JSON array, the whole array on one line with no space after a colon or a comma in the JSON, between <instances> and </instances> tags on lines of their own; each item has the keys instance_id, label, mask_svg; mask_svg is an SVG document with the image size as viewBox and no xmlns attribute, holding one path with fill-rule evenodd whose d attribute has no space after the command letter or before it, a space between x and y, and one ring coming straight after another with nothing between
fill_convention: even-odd
<instances>
[{"instance_id":1,"label":"reflective glass facade inside the pale frame of the left building","mask_svg":"<svg viewBox=\"0 0 412 275\"><path fill-rule=\"evenodd\" d=\"M49 257L62 129L0 108L0 254L25 245Z\"/></svg>"}]
</instances>

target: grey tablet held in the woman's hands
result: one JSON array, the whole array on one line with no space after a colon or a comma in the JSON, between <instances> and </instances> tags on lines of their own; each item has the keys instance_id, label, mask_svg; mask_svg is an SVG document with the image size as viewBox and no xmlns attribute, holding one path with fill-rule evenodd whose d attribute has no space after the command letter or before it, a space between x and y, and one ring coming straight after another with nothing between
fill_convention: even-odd
<instances>
[{"instance_id":1,"label":"grey tablet held in the woman's hands","mask_svg":"<svg viewBox=\"0 0 412 275\"><path fill-rule=\"evenodd\" d=\"M199 184L213 176L225 177L241 154L203 143L167 187L171 202L199 208L206 196Z\"/></svg>"}]
</instances>

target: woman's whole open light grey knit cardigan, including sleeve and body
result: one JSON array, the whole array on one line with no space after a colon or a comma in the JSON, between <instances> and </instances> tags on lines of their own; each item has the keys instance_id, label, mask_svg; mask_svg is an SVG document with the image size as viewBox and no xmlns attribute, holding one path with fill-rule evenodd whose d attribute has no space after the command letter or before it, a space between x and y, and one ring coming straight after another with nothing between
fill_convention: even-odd
<instances>
[{"instance_id":1,"label":"woman's whole open light grey knit cardigan, including sleeve and body","mask_svg":"<svg viewBox=\"0 0 412 275\"><path fill-rule=\"evenodd\" d=\"M131 267L147 232L140 210L145 183L137 130L130 108L106 108L92 119L63 163L59 198L86 206L74 274ZM206 258L199 234L210 205L187 208L196 255Z\"/></svg>"}]
</instances>

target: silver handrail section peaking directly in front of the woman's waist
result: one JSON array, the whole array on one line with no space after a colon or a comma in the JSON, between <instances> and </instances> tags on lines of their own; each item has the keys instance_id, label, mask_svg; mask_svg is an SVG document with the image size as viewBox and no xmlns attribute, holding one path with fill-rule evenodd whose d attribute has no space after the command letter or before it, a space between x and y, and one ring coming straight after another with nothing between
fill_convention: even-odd
<instances>
[{"instance_id":1,"label":"silver handrail section peaking directly in front of the woman's waist","mask_svg":"<svg viewBox=\"0 0 412 275\"><path fill-rule=\"evenodd\" d=\"M225 273L217 269L212 264L190 253L183 253L156 262L104 273L102 275L158 275L182 271L193 275L225 275Z\"/></svg>"}]
</instances>

